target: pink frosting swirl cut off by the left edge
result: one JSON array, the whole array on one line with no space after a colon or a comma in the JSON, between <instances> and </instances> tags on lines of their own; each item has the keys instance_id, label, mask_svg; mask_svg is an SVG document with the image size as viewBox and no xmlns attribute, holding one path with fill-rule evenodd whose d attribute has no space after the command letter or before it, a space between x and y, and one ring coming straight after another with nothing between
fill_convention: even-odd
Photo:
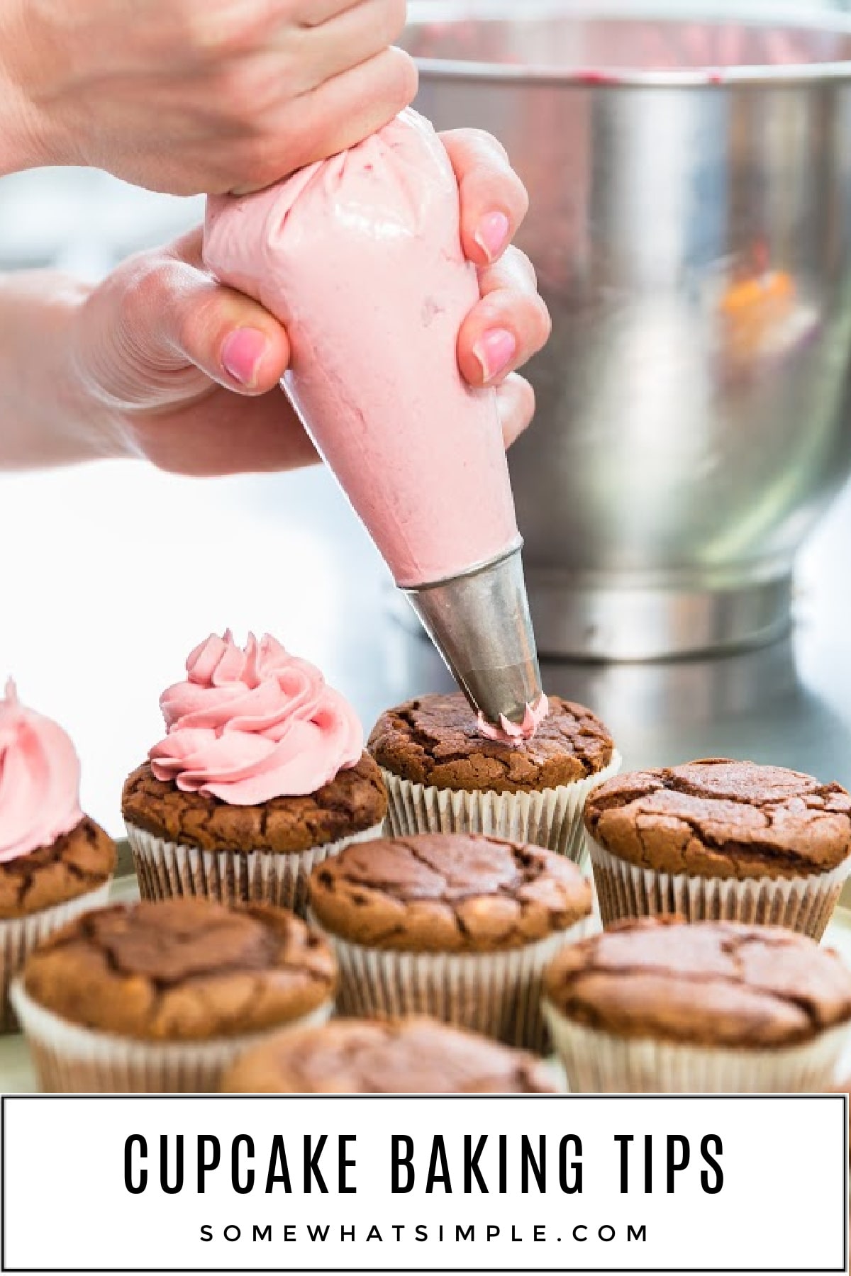
<instances>
[{"instance_id":1,"label":"pink frosting swirl cut off by the left edge","mask_svg":"<svg viewBox=\"0 0 851 1276\"><path fill-rule=\"evenodd\" d=\"M0 864L51 846L83 818L80 764L61 726L18 702L9 679L0 701Z\"/></svg>"}]
</instances>

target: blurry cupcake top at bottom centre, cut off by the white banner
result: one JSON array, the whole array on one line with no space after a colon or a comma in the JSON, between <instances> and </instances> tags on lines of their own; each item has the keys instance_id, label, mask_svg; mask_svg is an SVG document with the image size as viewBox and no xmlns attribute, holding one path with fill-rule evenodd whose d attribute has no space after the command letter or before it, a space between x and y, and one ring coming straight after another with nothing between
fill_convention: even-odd
<instances>
[{"instance_id":1,"label":"blurry cupcake top at bottom centre, cut off by the white banner","mask_svg":"<svg viewBox=\"0 0 851 1276\"><path fill-rule=\"evenodd\" d=\"M435 1020L334 1020L281 1032L241 1055L226 1094L546 1095L546 1065Z\"/></svg>"}]
</instances>

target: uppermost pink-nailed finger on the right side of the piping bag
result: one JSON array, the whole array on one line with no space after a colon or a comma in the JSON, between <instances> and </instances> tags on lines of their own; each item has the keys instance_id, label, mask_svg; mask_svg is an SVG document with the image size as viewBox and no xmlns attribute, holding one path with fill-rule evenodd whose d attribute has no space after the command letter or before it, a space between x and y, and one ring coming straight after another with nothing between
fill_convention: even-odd
<instances>
[{"instance_id":1,"label":"uppermost pink-nailed finger on the right side of the piping bag","mask_svg":"<svg viewBox=\"0 0 851 1276\"><path fill-rule=\"evenodd\" d=\"M461 190L461 240L476 265L496 262L517 234L529 200L504 148L489 133L441 133Z\"/></svg>"}]
</instances>

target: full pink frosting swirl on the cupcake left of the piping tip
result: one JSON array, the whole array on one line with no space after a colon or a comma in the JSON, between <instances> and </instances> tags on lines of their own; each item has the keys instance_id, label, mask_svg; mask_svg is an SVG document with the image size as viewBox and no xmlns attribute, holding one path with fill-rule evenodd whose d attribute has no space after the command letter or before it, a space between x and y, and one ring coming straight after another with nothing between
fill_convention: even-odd
<instances>
[{"instance_id":1,"label":"full pink frosting swirl on the cupcake left of the piping tip","mask_svg":"<svg viewBox=\"0 0 851 1276\"><path fill-rule=\"evenodd\" d=\"M168 734L149 753L157 780L232 806L315 792L364 750L361 723L318 669L269 634L245 648L227 630L186 661L163 692Z\"/></svg>"}]
</instances>

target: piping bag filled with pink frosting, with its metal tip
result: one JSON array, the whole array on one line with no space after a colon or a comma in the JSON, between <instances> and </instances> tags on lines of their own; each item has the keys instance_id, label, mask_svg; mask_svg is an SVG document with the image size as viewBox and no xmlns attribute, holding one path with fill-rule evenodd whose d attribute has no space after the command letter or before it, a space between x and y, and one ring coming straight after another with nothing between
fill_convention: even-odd
<instances>
[{"instance_id":1,"label":"piping bag filled with pink frosting, with its metal tip","mask_svg":"<svg viewBox=\"0 0 851 1276\"><path fill-rule=\"evenodd\" d=\"M283 389L487 734L531 735L546 698L522 540L495 393L458 369L480 293L431 124L407 110L274 186L209 197L204 260L286 325Z\"/></svg>"}]
</instances>

